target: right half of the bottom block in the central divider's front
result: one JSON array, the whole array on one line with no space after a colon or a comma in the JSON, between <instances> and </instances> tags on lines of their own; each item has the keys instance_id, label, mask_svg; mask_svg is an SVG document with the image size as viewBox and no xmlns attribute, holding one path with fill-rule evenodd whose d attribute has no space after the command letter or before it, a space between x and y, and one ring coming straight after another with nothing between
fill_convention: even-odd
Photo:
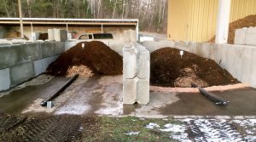
<instances>
[{"instance_id":1,"label":"right half of the bottom block in the central divider's front","mask_svg":"<svg viewBox=\"0 0 256 142\"><path fill-rule=\"evenodd\" d=\"M149 78L139 79L137 82L137 103L140 105L149 103Z\"/></svg>"}]
</instances>

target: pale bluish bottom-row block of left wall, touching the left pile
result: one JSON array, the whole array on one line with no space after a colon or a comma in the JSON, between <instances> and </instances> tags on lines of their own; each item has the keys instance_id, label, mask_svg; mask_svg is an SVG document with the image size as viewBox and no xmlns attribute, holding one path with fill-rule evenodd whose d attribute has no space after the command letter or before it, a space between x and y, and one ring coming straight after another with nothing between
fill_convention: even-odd
<instances>
[{"instance_id":1,"label":"pale bluish bottom-row block of left wall, touching the left pile","mask_svg":"<svg viewBox=\"0 0 256 142\"><path fill-rule=\"evenodd\" d=\"M34 64L35 76L38 76L41 73L43 73L44 71L46 71L49 64L54 62L58 57L59 57L59 55L55 55L52 57L44 58L42 60L34 61L33 64Z\"/></svg>"}]
</instances>

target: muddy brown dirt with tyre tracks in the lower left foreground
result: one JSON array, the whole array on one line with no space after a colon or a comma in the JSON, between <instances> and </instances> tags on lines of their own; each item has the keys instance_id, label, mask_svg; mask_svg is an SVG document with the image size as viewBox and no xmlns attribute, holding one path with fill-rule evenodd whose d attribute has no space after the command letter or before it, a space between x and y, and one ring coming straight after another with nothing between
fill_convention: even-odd
<instances>
[{"instance_id":1,"label":"muddy brown dirt with tyre tracks in the lower left foreground","mask_svg":"<svg viewBox=\"0 0 256 142\"><path fill-rule=\"evenodd\" d=\"M0 141L79 141L97 133L94 116L0 116Z\"/></svg>"}]
</instances>

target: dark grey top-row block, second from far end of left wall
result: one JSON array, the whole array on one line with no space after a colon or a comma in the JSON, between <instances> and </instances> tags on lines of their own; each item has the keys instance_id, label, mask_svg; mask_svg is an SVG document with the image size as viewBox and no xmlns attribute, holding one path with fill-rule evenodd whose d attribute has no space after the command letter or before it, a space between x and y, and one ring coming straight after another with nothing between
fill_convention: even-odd
<instances>
[{"instance_id":1,"label":"dark grey top-row block, second from far end of left wall","mask_svg":"<svg viewBox=\"0 0 256 142\"><path fill-rule=\"evenodd\" d=\"M55 43L45 42L41 44L42 58L55 55Z\"/></svg>"}]
</instances>

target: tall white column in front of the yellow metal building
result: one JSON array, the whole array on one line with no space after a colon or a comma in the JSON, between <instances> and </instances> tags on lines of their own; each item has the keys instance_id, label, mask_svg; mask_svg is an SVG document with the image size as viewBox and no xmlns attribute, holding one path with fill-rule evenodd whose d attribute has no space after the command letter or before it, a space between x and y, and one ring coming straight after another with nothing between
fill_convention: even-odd
<instances>
[{"instance_id":1,"label":"tall white column in front of the yellow metal building","mask_svg":"<svg viewBox=\"0 0 256 142\"><path fill-rule=\"evenodd\" d=\"M228 43L231 0L218 0L215 43Z\"/></svg>"}]
</instances>

